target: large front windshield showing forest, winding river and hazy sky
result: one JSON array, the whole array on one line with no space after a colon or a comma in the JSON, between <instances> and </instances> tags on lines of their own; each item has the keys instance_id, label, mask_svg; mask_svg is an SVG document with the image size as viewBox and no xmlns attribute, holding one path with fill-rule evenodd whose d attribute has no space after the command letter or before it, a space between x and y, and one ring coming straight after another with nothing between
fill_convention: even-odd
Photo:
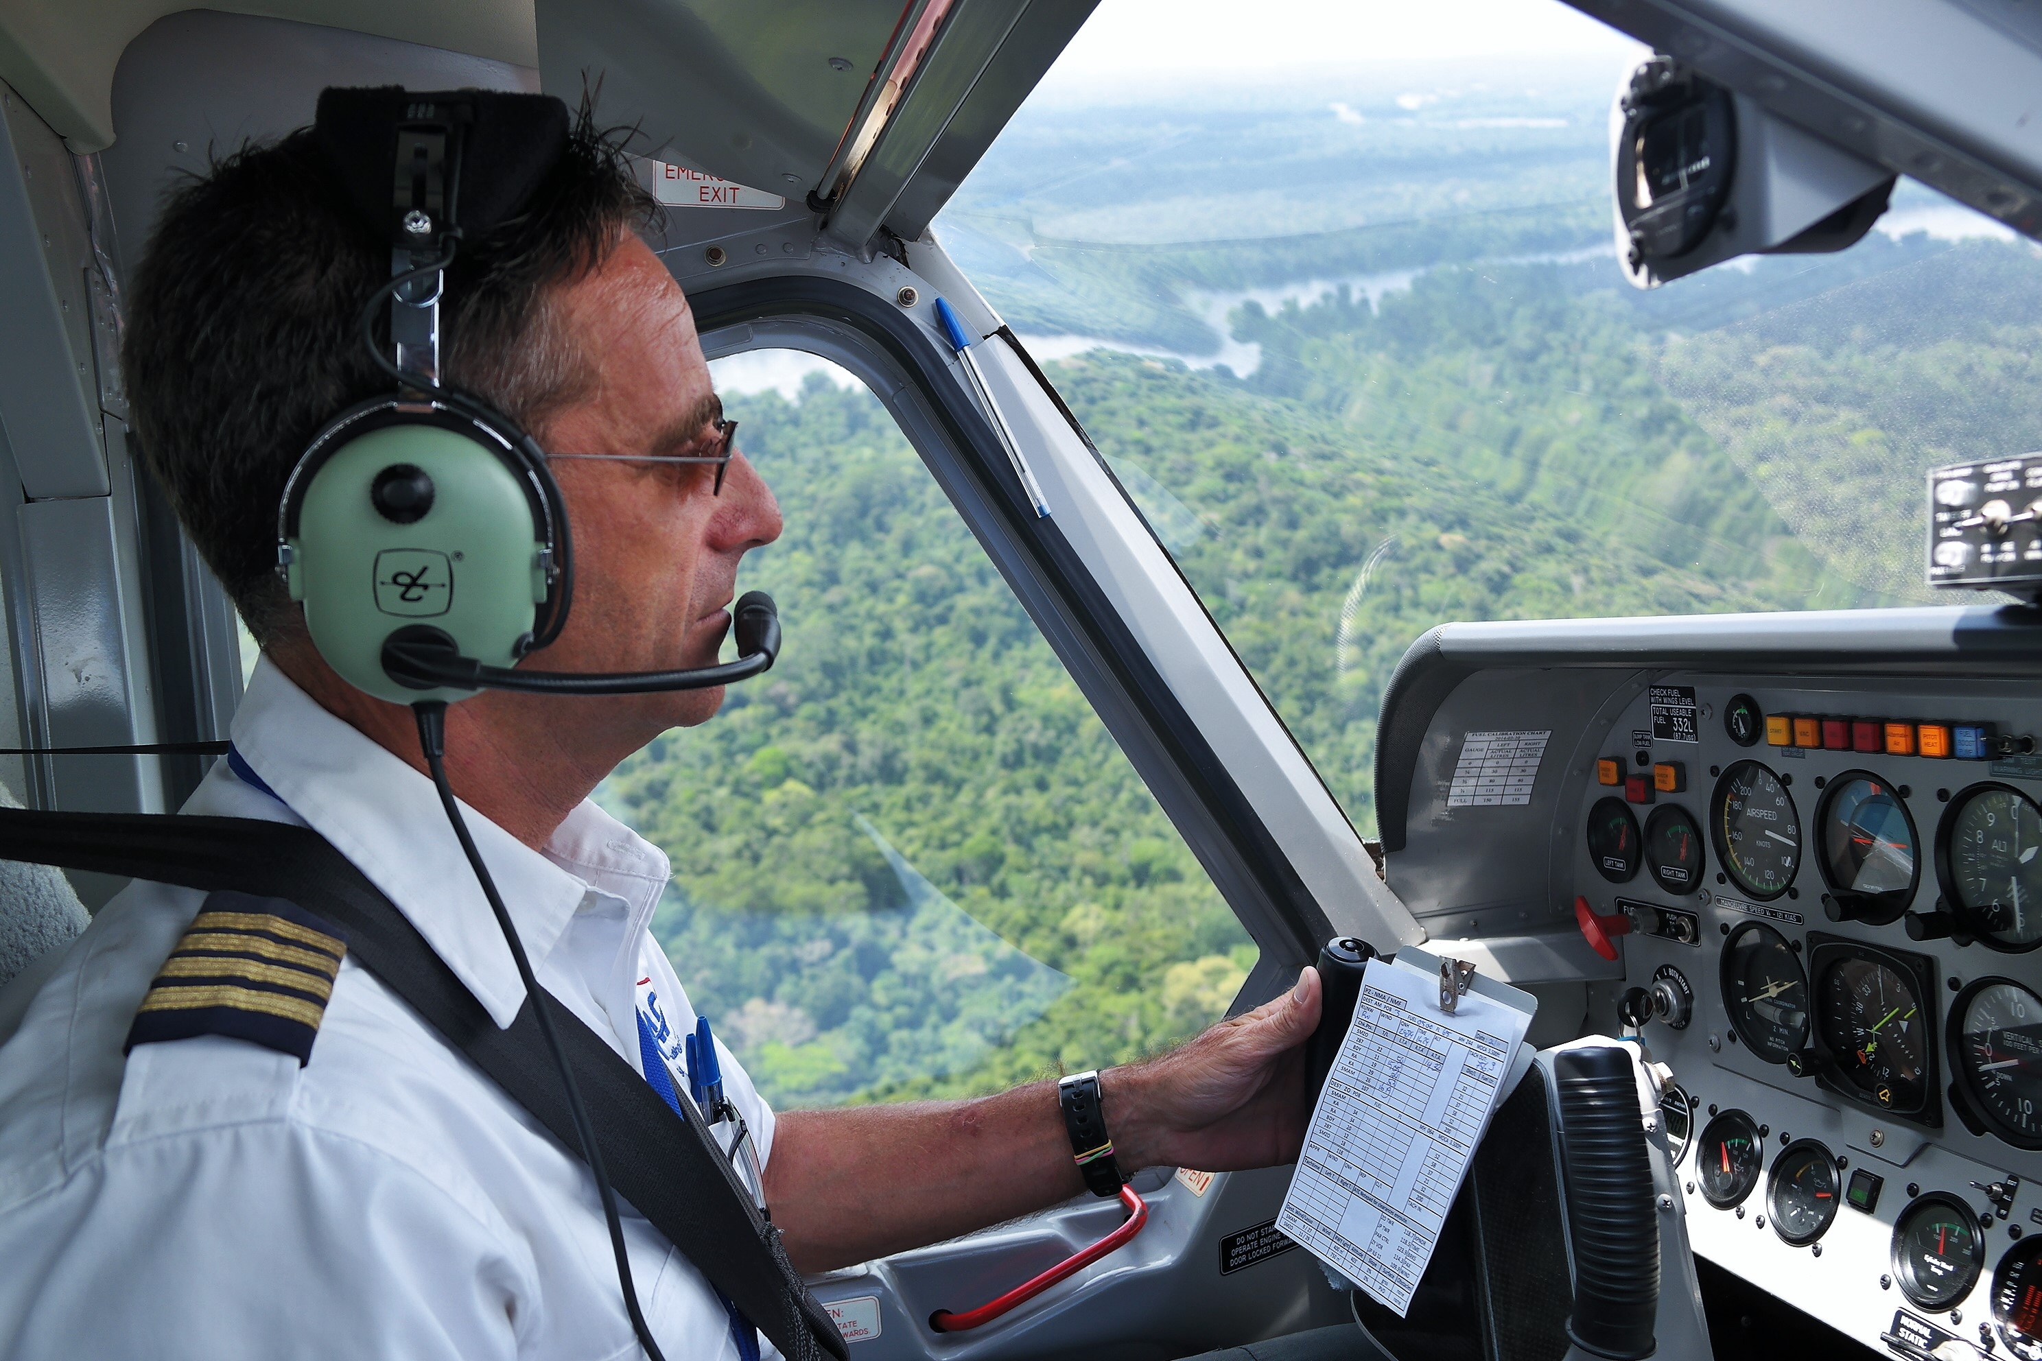
<instances>
[{"instance_id":1,"label":"large front windshield showing forest, winding river and hazy sky","mask_svg":"<svg viewBox=\"0 0 2042 1361\"><path fill-rule=\"evenodd\" d=\"M937 220L1364 833L1425 628L1968 604L1924 469L2042 429L2036 247L1905 180L1848 251L1630 288L1646 55L1548 0L1113 0Z\"/></svg>"}]
</instances>

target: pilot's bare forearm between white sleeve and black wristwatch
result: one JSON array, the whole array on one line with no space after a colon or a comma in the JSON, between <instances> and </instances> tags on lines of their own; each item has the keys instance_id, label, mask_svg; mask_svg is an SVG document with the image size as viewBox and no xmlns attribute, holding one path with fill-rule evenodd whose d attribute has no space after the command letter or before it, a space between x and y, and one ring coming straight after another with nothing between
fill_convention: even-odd
<instances>
[{"instance_id":1,"label":"pilot's bare forearm between white sleeve and black wristwatch","mask_svg":"<svg viewBox=\"0 0 2042 1361\"><path fill-rule=\"evenodd\" d=\"M827 1271L1041 1210L1084 1190L1056 1083L970 1102L790 1110L766 1198L803 1271Z\"/></svg>"}]
</instances>

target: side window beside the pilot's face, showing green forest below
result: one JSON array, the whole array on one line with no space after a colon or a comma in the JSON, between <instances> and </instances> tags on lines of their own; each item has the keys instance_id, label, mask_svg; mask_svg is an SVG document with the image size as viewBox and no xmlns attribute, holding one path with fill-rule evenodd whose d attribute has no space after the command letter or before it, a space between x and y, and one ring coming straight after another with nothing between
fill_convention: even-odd
<instances>
[{"instance_id":1,"label":"side window beside the pilot's face, showing green forest below","mask_svg":"<svg viewBox=\"0 0 2042 1361\"><path fill-rule=\"evenodd\" d=\"M1225 1014L1256 947L849 373L711 365L786 533L772 675L598 798L674 859L653 920L776 1106L990 1092Z\"/></svg>"}]
</instances>

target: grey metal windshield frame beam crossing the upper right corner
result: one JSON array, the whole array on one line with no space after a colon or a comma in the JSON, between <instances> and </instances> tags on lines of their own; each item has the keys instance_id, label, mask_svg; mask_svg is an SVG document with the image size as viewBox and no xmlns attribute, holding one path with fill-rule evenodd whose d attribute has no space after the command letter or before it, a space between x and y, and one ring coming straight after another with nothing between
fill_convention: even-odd
<instances>
[{"instance_id":1,"label":"grey metal windshield frame beam crossing the upper right corner","mask_svg":"<svg viewBox=\"0 0 2042 1361\"><path fill-rule=\"evenodd\" d=\"M1989 0L1568 0L1887 169L2042 237L2042 20Z\"/></svg>"}]
</instances>

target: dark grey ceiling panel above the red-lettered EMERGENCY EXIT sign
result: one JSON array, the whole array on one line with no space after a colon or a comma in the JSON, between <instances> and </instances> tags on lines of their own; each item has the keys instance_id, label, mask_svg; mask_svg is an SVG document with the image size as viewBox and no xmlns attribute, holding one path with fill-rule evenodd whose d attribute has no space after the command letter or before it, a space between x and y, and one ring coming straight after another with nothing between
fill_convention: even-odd
<instances>
[{"instance_id":1,"label":"dark grey ceiling panel above the red-lettered EMERGENCY EXIT sign","mask_svg":"<svg viewBox=\"0 0 2042 1361\"><path fill-rule=\"evenodd\" d=\"M598 88L639 149L800 198L878 71L903 0L539 0L539 80Z\"/></svg>"}]
</instances>

